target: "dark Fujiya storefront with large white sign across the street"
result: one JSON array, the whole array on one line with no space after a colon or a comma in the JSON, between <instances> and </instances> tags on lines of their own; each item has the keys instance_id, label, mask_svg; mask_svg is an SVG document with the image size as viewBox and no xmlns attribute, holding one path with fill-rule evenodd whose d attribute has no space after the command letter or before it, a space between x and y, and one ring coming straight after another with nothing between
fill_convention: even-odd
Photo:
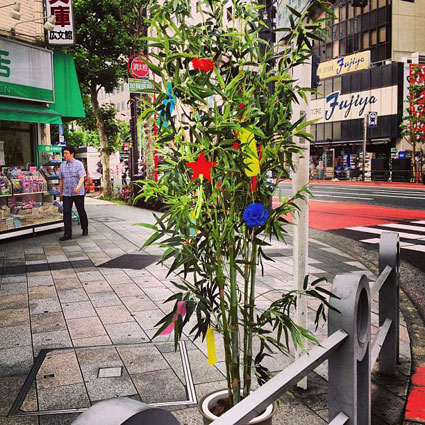
<instances>
[{"instance_id":1,"label":"dark Fujiya storefront with large white sign across the street","mask_svg":"<svg viewBox=\"0 0 425 425\"><path fill-rule=\"evenodd\" d=\"M362 170L364 117L377 112L378 125L367 129L366 177L389 178L389 164L400 138L403 64L392 63L326 78L311 101L317 177L356 178ZM379 160L379 161L378 161ZM374 173L375 171L388 171ZM319 171L322 170L319 176Z\"/></svg>"}]
</instances>

